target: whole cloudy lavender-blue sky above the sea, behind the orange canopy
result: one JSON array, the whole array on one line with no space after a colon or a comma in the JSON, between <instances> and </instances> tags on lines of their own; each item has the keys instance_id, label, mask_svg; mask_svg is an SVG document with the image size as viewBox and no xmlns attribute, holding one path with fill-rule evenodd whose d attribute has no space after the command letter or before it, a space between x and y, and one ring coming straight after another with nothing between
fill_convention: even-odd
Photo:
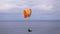
<instances>
[{"instance_id":1,"label":"whole cloudy lavender-blue sky above the sea, behind the orange canopy","mask_svg":"<svg viewBox=\"0 0 60 34\"><path fill-rule=\"evenodd\" d=\"M60 0L0 0L0 20L60 20ZM31 8L30 18L23 17Z\"/></svg>"}]
</instances>

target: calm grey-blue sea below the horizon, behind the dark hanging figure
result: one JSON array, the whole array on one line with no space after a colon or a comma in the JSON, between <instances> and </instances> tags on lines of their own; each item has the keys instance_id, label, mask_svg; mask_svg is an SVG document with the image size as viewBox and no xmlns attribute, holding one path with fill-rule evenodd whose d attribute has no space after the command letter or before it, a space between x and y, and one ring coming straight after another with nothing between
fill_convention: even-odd
<instances>
[{"instance_id":1,"label":"calm grey-blue sea below the horizon, behind the dark hanging figure","mask_svg":"<svg viewBox=\"0 0 60 34\"><path fill-rule=\"evenodd\" d=\"M0 21L0 34L60 34L60 21Z\"/></svg>"}]
</instances>

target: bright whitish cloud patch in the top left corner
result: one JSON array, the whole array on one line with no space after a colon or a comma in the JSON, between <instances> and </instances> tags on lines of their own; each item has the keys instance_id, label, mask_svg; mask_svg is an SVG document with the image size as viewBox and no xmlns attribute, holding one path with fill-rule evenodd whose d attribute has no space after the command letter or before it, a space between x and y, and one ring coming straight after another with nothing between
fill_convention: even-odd
<instances>
[{"instance_id":1,"label":"bright whitish cloud patch in the top left corner","mask_svg":"<svg viewBox=\"0 0 60 34\"><path fill-rule=\"evenodd\" d=\"M12 0L0 0L0 10L7 10L16 7L11 1Z\"/></svg>"}]
</instances>

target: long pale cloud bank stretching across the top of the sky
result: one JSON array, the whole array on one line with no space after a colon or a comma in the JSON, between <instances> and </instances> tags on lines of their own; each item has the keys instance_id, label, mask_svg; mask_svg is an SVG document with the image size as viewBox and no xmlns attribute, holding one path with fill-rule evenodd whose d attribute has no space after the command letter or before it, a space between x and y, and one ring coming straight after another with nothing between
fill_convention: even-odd
<instances>
[{"instance_id":1,"label":"long pale cloud bank stretching across the top of the sky","mask_svg":"<svg viewBox=\"0 0 60 34\"><path fill-rule=\"evenodd\" d=\"M12 8L38 8L41 10L51 10L53 5L51 0L0 0L0 10Z\"/></svg>"}]
</instances>

